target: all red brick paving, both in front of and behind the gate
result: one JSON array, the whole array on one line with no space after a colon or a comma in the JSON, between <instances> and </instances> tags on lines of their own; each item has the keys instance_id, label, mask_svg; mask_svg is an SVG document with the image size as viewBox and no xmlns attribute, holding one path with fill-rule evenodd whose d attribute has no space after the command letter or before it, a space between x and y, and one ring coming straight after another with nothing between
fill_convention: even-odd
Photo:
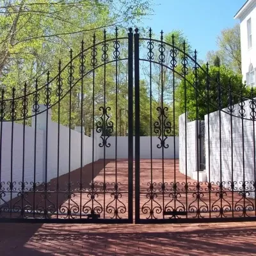
<instances>
[{"instance_id":1,"label":"all red brick paving, both in front of and behind the gate","mask_svg":"<svg viewBox=\"0 0 256 256\"><path fill-rule=\"evenodd\" d=\"M103 169L102 162L96 163L95 182L102 182ZM141 191L148 188L150 182L150 160L141 161ZM159 189L162 182L161 160L154 160L153 163L153 181L156 182L156 188ZM176 163L177 177L176 181L184 182L184 175L178 172L179 163ZM171 182L174 179L173 160L165 160L165 181L167 188L171 189ZM106 163L106 182L109 182L109 189L113 188L112 182L115 181L115 162L108 161ZM127 191L127 161L118 161L117 181L121 182L121 191ZM83 168L84 188L88 189L88 183L92 179L92 164ZM72 189L76 194L74 202L80 202L80 193L76 193L77 177L80 170L72 172L71 181L74 182ZM61 188L65 188L67 175L60 177ZM191 189L195 189L195 180L188 179L191 182ZM51 189L54 190L54 180L51 181ZM99 186L100 188L100 186ZM202 184L205 189L205 185ZM216 187L214 188L216 189ZM87 191L87 190L86 190ZM145 191L146 192L146 191ZM182 192L182 191L180 191ZM195 191L196 192L196 191ZM218 193L218 191L216 191ZM212 201L216 201L219 205L216 193L211 195L211 204L209 202L208 193L204 193L204 202L208 207L212 207ZM166 193L164 200L170 200ZM88 202L88 191L82 194L82 204ZM110 194L109 194L110 195ZM146 194L141 196L141 206L146 203ZM160 205L161 193L154 201ZM183 196L183 197L182 197ZM100 197L101 204L102 196ZM110 196L109 196L110 198ZM168 198L168 199L167 199ZM180 202L184 204L184 193L180 195ZM196 205L198 200L193 197L193 191L188 196L189 204ZM226 196L227 202L230 201L230 195ZM241 196L234 195L235 202L241 200ZM172 199L172 198L171 198ZM52 198L56 202L56 198ZM59 198L63 200L63 198ZM123 201L124 200L124 201ZM126 204L127 198L122 198L122 202ZM183 201L182 201L183 200ZM200 204L204 203L199 200ZM105 207L111 201L106 200ZM232 202L231 202L232 203ZM180 205L182 205L180 204ZM188 205L189 205L188 204ZM74 203L70 204L75 205ZM120 214L122 216L126 216ZM206 214L206 213L205 213ZM207 213L209 214L209 213ZM214 213L216 214L216 213ZM193 214L192 214L193 215ZM107 216L109 218L110 214ZM147 214L141 216L146 218ZM163 217L158 214L158 217ZM191 218L193 216L190 216ZM256 255L256 223L222 223L222 224L169 224L169 225L70 225L70 224L18 224L18 223L0 223L0 255Z\"/></svg>"}]
</instances>

